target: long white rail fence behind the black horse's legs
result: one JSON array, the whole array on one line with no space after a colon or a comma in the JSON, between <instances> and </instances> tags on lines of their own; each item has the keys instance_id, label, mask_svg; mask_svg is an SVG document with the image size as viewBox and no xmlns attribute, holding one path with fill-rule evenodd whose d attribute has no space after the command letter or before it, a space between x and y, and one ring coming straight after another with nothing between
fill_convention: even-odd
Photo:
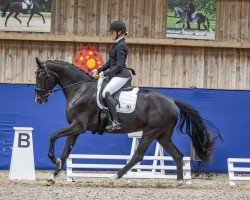
<instances>
[{"instance_id":1,"label":"long white rail fence behind the black horse's legs","mask_svg":"<svg viewBox=\"0 0 250 200\"><path fill-rule=\"evenodd\" d=\"M71 154L67 159L67 180L72 181L74 177L110 177L114 175L115 171L112 173L107 173L107 171L116 170L123 168L127 162L134 155L142 132L135 132L128 134L130 138L133 138L130 155L93 155L93 154ZM163 148L159 143L156 143L154 156L144 156L143 161L147 160L151 164L141 164L139 162L135 165L124 178L165 178L165 179L177 179L176 166L173 162L172 157L164 156ZM88 164L83 164L79 162L79 159L84 159ZM92 160L92 161L91 161ZM99 163L105 160L105 163L95 164L99 160ZM122 164L113 164L114 160L116 163ZM77 161L77 162L76 162ZM94 161L94 162L93 162ZM184 166L183 166L183 178L186 184L191 184L191 167L190 167L190 157L184 157ZM91 163L92 162L92 163ZM108 164L111 162L111 164ZM113 162L113 163L112 163ZM159 165L158 165L159 163ZM167 163L167 164L166 164ZM103 173L90 173L90 170L99 170ZM168 174L166 173L168 172ZM171 173L169 173L171 172Z\"/></svg>"}]
</instances>

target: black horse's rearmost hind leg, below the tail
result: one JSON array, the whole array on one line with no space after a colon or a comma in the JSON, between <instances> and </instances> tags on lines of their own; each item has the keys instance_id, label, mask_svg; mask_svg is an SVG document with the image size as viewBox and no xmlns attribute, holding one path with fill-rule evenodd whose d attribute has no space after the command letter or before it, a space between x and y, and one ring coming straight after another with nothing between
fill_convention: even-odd
<instances>
[{"instance_id":1,"label":"black horse's rearmost hind leg, below the tail","mask_svg":"<svg viewBox=\"0 0 250 200\"><path fill-rule=\"evenodd\" d=\"M167 151L170 156L174 159L177 167L177 180L183 180L183 154L179 151L179 149L174 145L171 140L173 129L171 133L165 133L160 135L156 140L160 143L160 145Z\"/></svg>"}]
</instances>

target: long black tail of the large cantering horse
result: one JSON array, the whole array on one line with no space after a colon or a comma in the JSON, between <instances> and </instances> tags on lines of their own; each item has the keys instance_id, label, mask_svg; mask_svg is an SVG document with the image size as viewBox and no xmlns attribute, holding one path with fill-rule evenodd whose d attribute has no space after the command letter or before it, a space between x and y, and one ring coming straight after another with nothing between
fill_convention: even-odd
<instances>
[{"instance_id":1,"label":"long black tail of the large cantering horse","mask_svg":"<svg viewBox=\"0 0 250 200\"><path fill-rule=\"evenodd\" d=\"M204 162L209 162L211 160L211 155L217 138L219 137L222 140L218 129L209 121L202 119L199 112L192 106L187 105L180 100L175 100L175 103L180 109L179 130L191 138L193 147L198 157ZM183 131L184 125L186 128L185 132ZM218 136L210 139L206 126L215 128Z\"/></svg>"}]
</instances>

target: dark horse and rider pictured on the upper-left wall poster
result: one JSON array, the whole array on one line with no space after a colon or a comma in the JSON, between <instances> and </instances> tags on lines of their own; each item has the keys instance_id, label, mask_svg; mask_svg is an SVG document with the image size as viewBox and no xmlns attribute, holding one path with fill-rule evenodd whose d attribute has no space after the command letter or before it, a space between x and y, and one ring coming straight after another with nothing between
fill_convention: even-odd
<instances>
[{"instance_id":1,"label":"dark horse and rider pictured on the upper-left wall poster","mask_svg":"<svg viewBox=\"0 0 250 200\"><path fill-rule=\"evenodd\" d=\"M45 5L48 3L48 0L13 0L9 1L2 10L2 17L6 16L6 13L9 12L6 16L5 26L7 26L8 19L14 14L14 18L22 24L22 21L18 18L20 13L29 14L29 20L27 26L29 26L30 20L37 14L42 17L43 23L45 24L44 16L41 11L44 10Z\"/></svg>"}]
</instances>

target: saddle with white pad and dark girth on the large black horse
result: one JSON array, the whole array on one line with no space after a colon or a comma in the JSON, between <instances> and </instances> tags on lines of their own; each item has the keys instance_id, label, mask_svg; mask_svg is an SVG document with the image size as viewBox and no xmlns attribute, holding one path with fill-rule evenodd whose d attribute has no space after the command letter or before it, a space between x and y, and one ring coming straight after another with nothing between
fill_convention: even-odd
<instances>
[{"instance_id":1,"label":"saddle with white pad and dark girth on the large black horse","mask_svg":"<svg viewBox=\"0 0 250 200\"><path fill-rule=\"evenodd\" d=\"M106 131L106 126L108 125L111 117L109 114L109 110L105 105L105 100L102 97L102 91L108 84L107 79L105 77L100 77L98 79L97 84L97 105L100 108L99 113L99 130L98 134L103 134ZM112 95L116 110L119 113L132 113L135 110L136 102L137 102L137 94L139 88L131 86L131 79L115 94Z\"/></svg>"}]
</instances>

